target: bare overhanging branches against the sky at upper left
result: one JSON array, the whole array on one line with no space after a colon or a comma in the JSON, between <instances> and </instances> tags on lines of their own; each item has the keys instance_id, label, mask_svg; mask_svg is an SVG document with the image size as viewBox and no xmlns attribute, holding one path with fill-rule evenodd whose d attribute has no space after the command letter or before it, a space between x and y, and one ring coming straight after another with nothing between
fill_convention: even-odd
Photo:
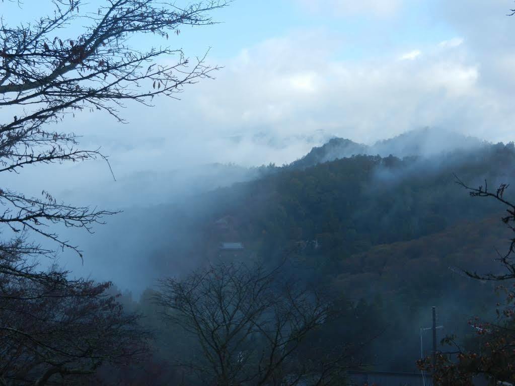
<instances>
[{"instance_id":1,"label":"bare overhanging branches against the sky at upper left","mask_svg":"<svg viewBox=\"0 0 515 386\"><path fill-rule=\"evenodd\" d=\"M209 13L224 7L225 1L181 8L163 0L106 0L94 13L81 13L81 0L50 4L54 13L32 23L10 26L5 14L0 20L0 109L4 117L9 109L12 117L0 123L0 172L97 157L107 161L98 149L79 149L75 133L54 131L49 124L81 110L103 110L124 122L118 108L125 101L148 105L159 95L177 98L186 84L209 78L218 68L206 65L204 57L191 62L181 49L140 52L129 43L136 34L168 39L183 26L212 24ZM67 27L79 23L85 25L82 33L68 36ZM176 61L157 64L160 57ZM0 186L0 205L0 223L14 233L36 232L79 253L47 225L90 231L113 213L58 203L47 192L41 198L26 197L6 186Z\"/></svg>"}]
</instances>

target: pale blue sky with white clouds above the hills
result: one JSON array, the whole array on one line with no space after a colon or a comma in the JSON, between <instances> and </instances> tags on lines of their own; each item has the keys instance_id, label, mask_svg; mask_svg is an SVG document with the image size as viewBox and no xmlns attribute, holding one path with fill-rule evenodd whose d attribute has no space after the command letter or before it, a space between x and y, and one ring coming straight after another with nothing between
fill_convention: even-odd
<instances>
[{"instance_id":1,"label":"pale blue sky with white clouds above the hills","mask_svg":"<svg viewBox=\"0 0 515 386\"><path fill-rule=\"evenodd\" d=\"M0 7L8 24L52 11L49 0ZM170 171L282 165L333 136L372 144L428 126L512 141L511 7L511 0L234 0L213 13L219 24L184 28L168 41L191 57L209 49L208 63L223 67L216 79L187 86L181 100L129 103L125 125L98 112L62 122L83 148L109 155L118 182L101 161L26 168L3 181L115 209L122 190L130 190L123 203L130 205L159 203L148 192L165 184L187 188ZM163 44L133 40L152 43ZM138 194L149 179L153 187Z\"/></svg>"}]
</instances>

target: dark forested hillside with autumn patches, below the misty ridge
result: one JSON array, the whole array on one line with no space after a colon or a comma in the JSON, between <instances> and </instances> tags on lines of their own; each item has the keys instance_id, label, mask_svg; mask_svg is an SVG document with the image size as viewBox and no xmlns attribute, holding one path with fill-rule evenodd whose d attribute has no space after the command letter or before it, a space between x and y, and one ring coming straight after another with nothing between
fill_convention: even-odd
<instances>
[{"instance_id":1,"label":"dark forested hillside with autumn patches, below the misty ridge","mask_svg":"<svg viewBox=\"0 0 515 386\"><path fill-rule=\"evenodd\" d=\"M474 201L455 176L473 186L510 182L514 161L513 144L497 144L431 157L356 155L274 168L196 197L194 205L161 206L163 224L173 229L180 222L181 231L152 245L147 261L163 274L180 272L184 261L282 263L286 275L324 288L345 310L320 339L357 344L376 336L365 350L370 368L414 371L418 331L431 322L431 306L439 308L442 337L470 335L467 319L491 312L493 285L462 270L500 269L495 248L508 245L503 208ZM167 232L161 225L158 234ZM220 243L242 249L225 251Z\"/></svg>"}]
</instances>

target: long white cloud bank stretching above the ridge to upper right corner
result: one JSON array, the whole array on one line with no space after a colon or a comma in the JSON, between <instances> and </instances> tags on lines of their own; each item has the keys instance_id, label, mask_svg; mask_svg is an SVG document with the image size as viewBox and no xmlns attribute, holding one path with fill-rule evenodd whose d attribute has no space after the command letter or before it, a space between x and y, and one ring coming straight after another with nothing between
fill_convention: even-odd
<instances>
[{"instance_id":1,"label":"long white cloud bank stretching above the ridge to upper right corner","mask_svg":"<svg viewBox=\"0 0 515 386\"><path fill-rule=\"evenodd\" d=\"M422 126L510 141L515 55L506 47L515 19L504 16L500 2L490 14L478 0L466 17L466 0L456 1L431 9L453 26L449 38L402 55L392 46L375 58L337 60L334 52L350 37L338 42L331 33L295 31L244 47L230 60L211 58L225 65L216 80L187 87L181 101L131 105L123 112L129 125L78 114L73 129L85 135L85 147L103 146L119 177L207 162L282 164L332 135L370 143ZM106 170L89 168L81 176ZM52 178L45 177L50 186L73 184ZM101 178L110 178L107 170Z\"/></svg>"}]
</instances>

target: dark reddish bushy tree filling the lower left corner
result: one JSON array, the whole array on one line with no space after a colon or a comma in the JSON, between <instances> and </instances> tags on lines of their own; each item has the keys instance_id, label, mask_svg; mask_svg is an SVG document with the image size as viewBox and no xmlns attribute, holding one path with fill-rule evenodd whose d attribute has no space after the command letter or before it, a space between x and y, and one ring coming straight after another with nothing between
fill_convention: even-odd
<instances>
[{"instance_id":1,"label":"dark reddish bushy tree filling the lower left corner","mask_svg":"<svg viewBox=\"0 0 515 386\"><path fill-rule=\"evenodd\" d=\"M0 384L82 384L101 366L142 358L148 333L110 287L1 252Z\"/></svg>"}]
</instances>

